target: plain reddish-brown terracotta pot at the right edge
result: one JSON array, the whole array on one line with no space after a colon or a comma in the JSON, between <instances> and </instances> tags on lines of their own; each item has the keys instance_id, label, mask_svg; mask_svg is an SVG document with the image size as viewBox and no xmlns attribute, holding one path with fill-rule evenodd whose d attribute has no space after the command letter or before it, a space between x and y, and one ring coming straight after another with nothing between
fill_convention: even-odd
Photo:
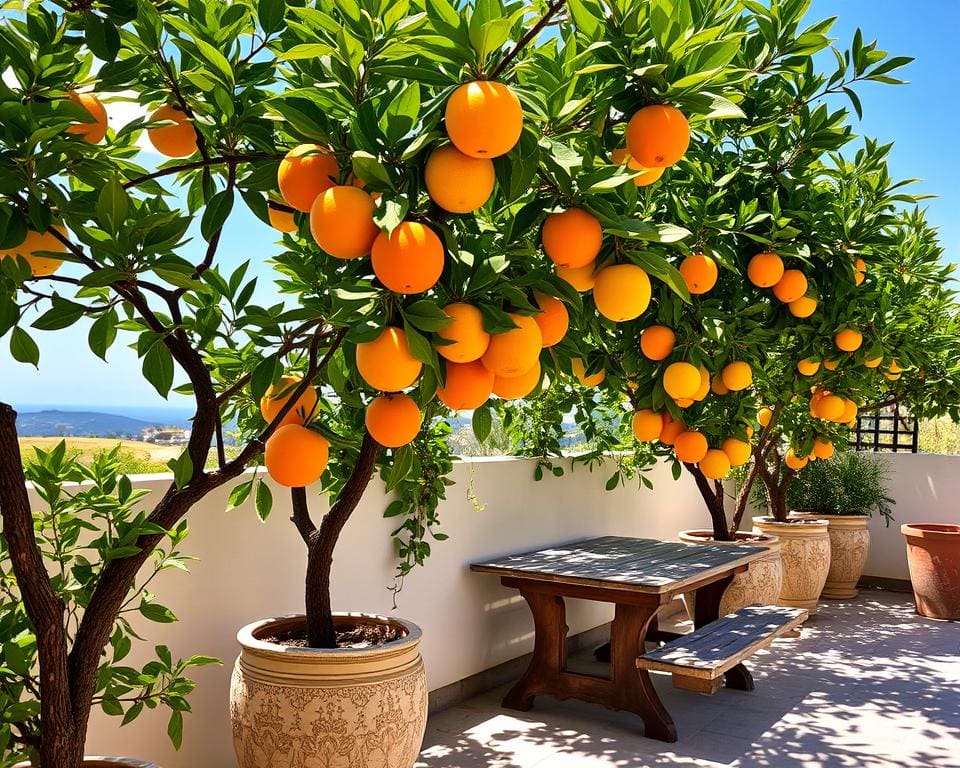
<instances>
[{"instance_id":1,"label":"plain reddish-brown terracotta pot at the right edge","mask_svg":"<svg viewBox=\"0 0 960 768\"><path fill-rule=\"evenodd\" d=\"M960 525L901 525L917 613L960 619Z\"/></svg>"}]
</instances>

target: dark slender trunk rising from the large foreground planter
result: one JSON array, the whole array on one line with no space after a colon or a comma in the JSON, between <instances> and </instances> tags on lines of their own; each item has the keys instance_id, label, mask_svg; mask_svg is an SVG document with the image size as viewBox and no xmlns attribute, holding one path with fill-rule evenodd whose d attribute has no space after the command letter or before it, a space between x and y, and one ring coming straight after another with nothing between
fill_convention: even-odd
<instances>
[{"instance_id":1,"label":"dark slender trunk rising from the large foreground planter","mask_svg":"<svg viewBox=\"0 0 960 768\"><path fill-rule=\"evenodd\" d=\"M305 597L307 644L311 648L337 647L337 637L333 627L333 607L330 602L330 570L333 567L333 551L343 526L357 508L373 477L380 450L380 444L369 434L364 434L353 473L344 484L337 501L323 518L320 528L309 536Z\"/></svg>"}]
</instances>

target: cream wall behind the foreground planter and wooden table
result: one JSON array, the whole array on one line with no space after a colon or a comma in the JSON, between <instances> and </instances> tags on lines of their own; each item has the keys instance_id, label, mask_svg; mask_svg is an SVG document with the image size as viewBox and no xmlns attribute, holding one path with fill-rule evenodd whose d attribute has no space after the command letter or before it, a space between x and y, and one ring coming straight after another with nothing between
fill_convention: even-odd
<instances>
[{"instance_id":1,"label":"cream wall behind the foreground planter and wooden table","mask_svg":"<svg viewBox=\"0 0 960 768\"><path fill-rule=\"evenodd\" d=\"M469 563L573 539L618 534L669 538L684 528L709 524L686 475L678 482L658 467L655 491L636 484L606 492L609 469L578 467L563 478L533 481L534 463L521 459L458 463L441 507L442 530L425 568L407 578L397 615L419 624L431 690L466 678L532 650L529 611L495 576L474 574ZM468 498L471 487L482 509ZM157 492L165 482L137 483ZM169 572L155 591L179 616L170 625L145 624L152 647L168 645L174 657L218 656L223 667L196 670L184 743L177 753L166 739L166 713L147 712L119 728L119 718L95 715L88 752L154 760L164 768L233 768L227 711L236 631L267 616L302 611L303 545L288 521L288 497L279 490L266 524L250 505L225 512L228 489L213 494L191 514L184 550L200 558L185 575ZM391 613L387 587L395 561L384 520L382 486L370 489L344 531L334 564L334 605L339 610ZM570 606L571 634L609 621L604 606Z\"/></svg>"}]
</instances>

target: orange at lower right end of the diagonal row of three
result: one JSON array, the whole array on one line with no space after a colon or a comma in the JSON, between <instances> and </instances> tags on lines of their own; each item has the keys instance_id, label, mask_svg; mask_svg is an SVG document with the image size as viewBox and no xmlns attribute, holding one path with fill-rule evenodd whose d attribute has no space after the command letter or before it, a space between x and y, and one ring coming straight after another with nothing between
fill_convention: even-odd
<instances>
[{"instance_id":1,"label":"orange at lower right end of the diagonal row of three","mask_svg":"<svg viewBox=\"0 0 960 768\"><path fill-rule=\"evenodd\" d=\"M377 235L370 250L377 278L394 293L423 293L443 274L443 243L418 221L402 221L388 236Z\"/></svg>"}]
</instances>

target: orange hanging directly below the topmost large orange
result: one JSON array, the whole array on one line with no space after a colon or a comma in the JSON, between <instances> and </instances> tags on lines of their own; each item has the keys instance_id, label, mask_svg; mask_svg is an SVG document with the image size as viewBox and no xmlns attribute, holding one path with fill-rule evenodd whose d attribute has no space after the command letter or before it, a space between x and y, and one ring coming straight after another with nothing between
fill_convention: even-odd
<instances>
[{"instance_id":1,"label":"orange hanging directly below the topmost large orange","mask_svg":"<svg viewBox=\"0 0 960 768\"><path fill-rule=\"evenodd\" d=\"M430 199L450 213L482 207L497 181L493 160L470 157L452 144L430 153L423 174Z\"/></svg>"}]
</instances>

